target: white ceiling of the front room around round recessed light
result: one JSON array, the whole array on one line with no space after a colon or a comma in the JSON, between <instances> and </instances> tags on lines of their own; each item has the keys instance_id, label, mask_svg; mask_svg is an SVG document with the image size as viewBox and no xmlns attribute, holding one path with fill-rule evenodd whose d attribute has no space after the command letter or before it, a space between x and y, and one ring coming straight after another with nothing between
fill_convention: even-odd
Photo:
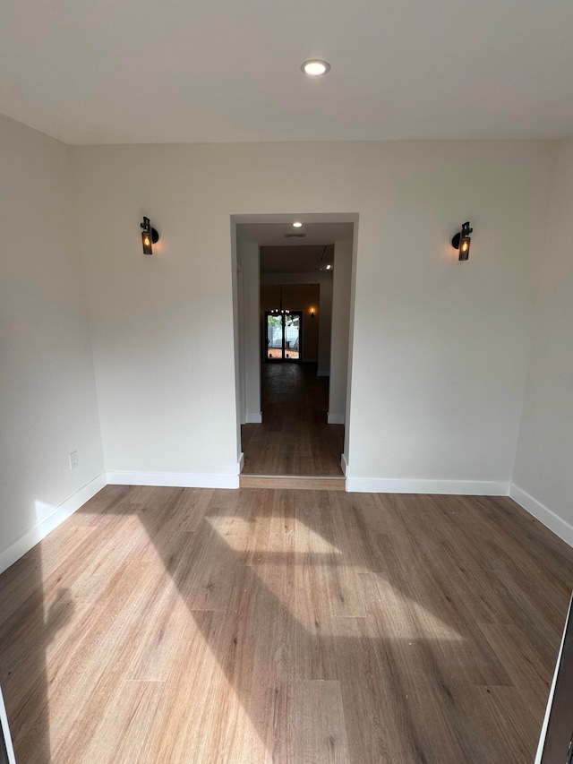
<instances>
[{"instance_id":1,"label":"white ceiling of the front room around round recessed light","mask_svg":"<svg viewBox=\"0 0 573 764\"><path fill-rule=\"evenodd\" d=\"M571 0L6 0L0 112L69 143L562 137L572 31Z\"/></svg>"}]
</instances>

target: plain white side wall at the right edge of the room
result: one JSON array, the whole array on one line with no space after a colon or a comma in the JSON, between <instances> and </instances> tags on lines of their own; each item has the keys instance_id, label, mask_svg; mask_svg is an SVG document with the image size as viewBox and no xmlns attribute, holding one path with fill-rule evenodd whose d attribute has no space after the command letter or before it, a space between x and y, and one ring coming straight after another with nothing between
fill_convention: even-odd
<instances>
[{"instance_id":1,"label":"plain white side wall at the right edge of the room","mask_svg":"<svg viewBox=\"0 0 573 764\"><path fill-rule=\"evenodd\" d=\"M533 349L513 476L517 501L573 544L571 219L573 139L560 142L547 235L539 250Z\"/></svg>"}]
</instances>

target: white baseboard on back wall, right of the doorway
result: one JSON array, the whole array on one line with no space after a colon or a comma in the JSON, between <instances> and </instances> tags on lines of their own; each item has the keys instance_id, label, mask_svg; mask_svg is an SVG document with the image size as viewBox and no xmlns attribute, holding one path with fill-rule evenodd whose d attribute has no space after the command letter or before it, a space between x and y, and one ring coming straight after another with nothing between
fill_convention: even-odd
<instances>
[{"instance_id":1,"label":"white baseboard on back wall, right of the doorway","mask_svg":"<svg viewBox=\"0 0 573 764\"><path fill-rule=\"evenodd\" d=\"M496 480L402 480L391 477L346 476L346 491L362 494L507 496L509 483Z\"/></svg>"}]
</instances>

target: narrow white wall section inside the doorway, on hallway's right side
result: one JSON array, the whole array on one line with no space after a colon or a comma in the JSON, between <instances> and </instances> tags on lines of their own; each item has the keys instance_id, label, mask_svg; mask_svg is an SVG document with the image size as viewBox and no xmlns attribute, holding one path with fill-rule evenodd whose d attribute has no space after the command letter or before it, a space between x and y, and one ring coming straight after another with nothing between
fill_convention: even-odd
<instances>
[{"instance_id":1,"label":"narrow white wall section inside the doorway, on hallway's right side","mask_svg":"<svg viewBox=\"0 0 573 764\"><path fill-rule=\"evenodd\" d=\"M330 343L329 424L344 425L352 283L352 240L334 245L332 339Z\"/></svg>"}]
</instances>

